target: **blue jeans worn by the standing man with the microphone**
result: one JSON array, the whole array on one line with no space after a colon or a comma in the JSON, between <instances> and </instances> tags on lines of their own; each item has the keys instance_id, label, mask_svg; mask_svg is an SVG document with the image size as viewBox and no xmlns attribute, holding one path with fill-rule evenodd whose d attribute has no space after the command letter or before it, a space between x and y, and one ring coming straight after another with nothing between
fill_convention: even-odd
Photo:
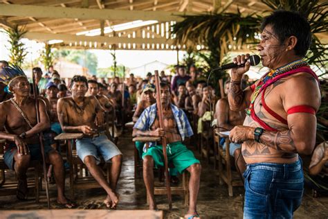
<instances>
[{"instance_id":1,"label":"blue jeans worn by the standing man with the microphone","mask_svg":"<svg viewBox=\"0 0 328 219\"><path fill-rule=\"evenodd\" d=\"M303 195L302 161L248 164L244 218L292 218Z\"/></svg>"}]
</instances>

